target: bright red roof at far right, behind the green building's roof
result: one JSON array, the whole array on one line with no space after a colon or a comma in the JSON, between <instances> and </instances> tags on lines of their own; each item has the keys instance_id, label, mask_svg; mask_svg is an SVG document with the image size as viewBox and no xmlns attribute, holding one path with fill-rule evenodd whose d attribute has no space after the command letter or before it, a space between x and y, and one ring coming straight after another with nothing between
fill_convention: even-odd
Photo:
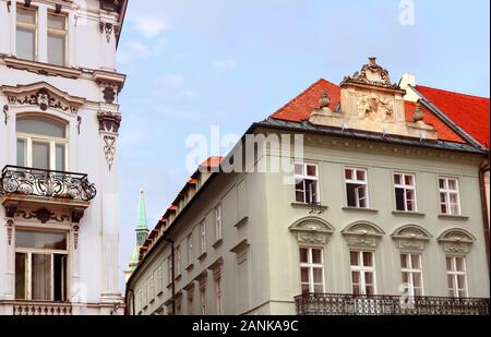
<instances>
[{"instance_id":1,"label":"bright red roof at far right, behind the green building's roof","mask_svg":"<svg viewBox=\"0 0 491 337\"><path fill-rule=\"evenodd\" d=\"M489 148L489 98L417 85L416 89L465 132Z\"/></svg>"}]
</instances>

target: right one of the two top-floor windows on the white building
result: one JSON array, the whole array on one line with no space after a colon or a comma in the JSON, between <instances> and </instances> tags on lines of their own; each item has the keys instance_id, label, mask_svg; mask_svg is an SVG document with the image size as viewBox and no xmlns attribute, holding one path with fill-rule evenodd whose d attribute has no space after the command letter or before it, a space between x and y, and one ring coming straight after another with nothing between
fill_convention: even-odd
<instances>
[{"instance_id":1,"label":"right one of the two top-floor windows on the white building","mask_svg":"<svg viewBox=\"0 0 491 337\"><path fill-rule=\"evenodd\" d=\"M67 16L48 13L48 62L64 67L67 59Z\"/></svg>"}]
</instances>

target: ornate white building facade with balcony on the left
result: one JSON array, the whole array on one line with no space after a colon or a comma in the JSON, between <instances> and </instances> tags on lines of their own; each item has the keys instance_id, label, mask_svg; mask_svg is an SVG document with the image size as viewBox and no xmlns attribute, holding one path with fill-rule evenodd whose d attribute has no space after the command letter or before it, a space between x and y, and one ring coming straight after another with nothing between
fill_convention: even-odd
<instances>
[{"instance_id":1,"label":"ornate white building facade with balcony on the left","mask_svg":"<svg viewBox=\"0 0 491 337\"><path fill-rule=\"evenodd\" d=\"M127 1L0 2L0 314L121 314ZM74 173L76 172L76 173Z\"/></svg>"}]
</instances>

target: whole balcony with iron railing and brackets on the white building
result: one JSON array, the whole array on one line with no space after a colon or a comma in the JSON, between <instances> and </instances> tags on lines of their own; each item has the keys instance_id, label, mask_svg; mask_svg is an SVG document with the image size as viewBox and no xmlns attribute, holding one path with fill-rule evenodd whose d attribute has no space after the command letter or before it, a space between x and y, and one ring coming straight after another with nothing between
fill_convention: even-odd
<instances>
[{"instance_id":1,"label":"whole balcony with iron railing and brackets on the white building","mask_svg":"<svg viewBox=\"0 0 491 337\"><path fill-rule=\"evenodd\" d=\"M72 212L72 221L79 222L96 194L84 173L5 166L0 177L0 204L8 217L14 217L21 206L38 207L27 217L46 222L53 215L47 208L62 206Z\"/></svg>"}]
</instances>

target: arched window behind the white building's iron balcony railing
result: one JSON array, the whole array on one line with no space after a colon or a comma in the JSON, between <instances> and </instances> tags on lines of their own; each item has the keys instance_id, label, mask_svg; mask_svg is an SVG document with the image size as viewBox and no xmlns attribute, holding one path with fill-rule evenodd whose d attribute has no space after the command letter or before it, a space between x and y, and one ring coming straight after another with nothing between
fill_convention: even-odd
<instances>
[{"instance_id":1,"label":"arched window behind the white building's iron balcony railing","mask_svg":"<svg viewBox=\"0 0 491 337\"><path fill-rule=\"evenodd\" d=\"M17 166L65 171L67 129L65 123L47 117L17 117Z\"/></svg>"}]
</instances>

